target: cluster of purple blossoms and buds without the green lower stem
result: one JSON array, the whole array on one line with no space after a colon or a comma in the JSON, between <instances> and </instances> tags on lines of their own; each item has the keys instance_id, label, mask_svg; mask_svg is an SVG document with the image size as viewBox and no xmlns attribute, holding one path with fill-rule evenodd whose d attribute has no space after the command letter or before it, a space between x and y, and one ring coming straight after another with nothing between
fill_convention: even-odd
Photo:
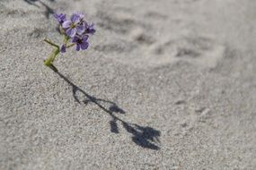
<instances>
[{"instance_id":1,"label":"cluster of purple blossoms and buds without the green lower stem","mask_svg":"<svg viewBox=\"0 0 256 170\"><path fill-rule=\"evenodd\" d=\"M83 13L73 13L70 20L66 19L63 13L55 14L54 17L60 24L60 31L65 34L66 39L72 38L72 42L76 45L76 50L85 50L89 47L89 35L93 35L96 31L93 23L84 20ZM61 52L66 52L66 41L61 46Z\"/></svg>"}]
</instances>

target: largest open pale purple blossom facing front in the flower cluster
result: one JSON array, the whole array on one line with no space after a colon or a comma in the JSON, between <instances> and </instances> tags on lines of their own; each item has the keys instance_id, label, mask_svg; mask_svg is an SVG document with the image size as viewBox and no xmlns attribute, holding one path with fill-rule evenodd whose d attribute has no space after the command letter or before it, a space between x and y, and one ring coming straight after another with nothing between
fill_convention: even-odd
<instances>
[{"instance_id":1,"label":"largest open pale purple blossom facing front in the flower cluster","mask_svg":"<svg viewBox=\"0 0 256 170\"><path fill-rule=\"evenodd\" d=\"M73 13L71 16L71 20L64 21L62 23L63 29L66 30L66 35L74 38L75 34L82 35L85 30L85 24L82 16L77 13Z\"/></svg>"}]
</instances>

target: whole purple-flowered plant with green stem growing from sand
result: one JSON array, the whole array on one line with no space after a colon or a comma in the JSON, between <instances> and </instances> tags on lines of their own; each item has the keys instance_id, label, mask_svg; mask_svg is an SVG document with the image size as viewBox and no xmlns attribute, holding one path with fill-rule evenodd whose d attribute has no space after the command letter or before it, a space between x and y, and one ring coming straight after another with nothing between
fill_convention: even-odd
<instances>
[{"instance_id":1,"label":"whole purple-flowered plant with green stem growing from sand","mask_svg":"<svg viewBox=\"0 0 256 170\"><path fill-rule=\"evenodd\" d=\"M95 33L94 24L85 21L83 13L73 13L70 19L66 18L66 14L54 14L55 19L59 24L59 31L63 35L64 40L61 46L53 43L48 38L44 39L52 47L55 47L49 58L44 61L44 64L49 66L55 72L57 68L53 62L57 55L65 53L66 49L75 46L77 51L85 50L89 47L88 38Z\"/></svg>"}]
</instances>

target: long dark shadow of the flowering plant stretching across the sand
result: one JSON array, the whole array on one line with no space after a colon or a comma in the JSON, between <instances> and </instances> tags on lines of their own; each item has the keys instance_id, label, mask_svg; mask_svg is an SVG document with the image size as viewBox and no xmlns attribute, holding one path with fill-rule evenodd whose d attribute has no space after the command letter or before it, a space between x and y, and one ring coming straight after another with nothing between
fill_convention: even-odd
<instances>
[{"instance_id":1,"label":"long dark shadow of the flowering plant stretching across the sand","mask_svg":"<svg viewBox=\"0 0 256 170\"><path fill-rule=\"evenodd\" d=\"M73 90L73 97L75 98L75 101L79 104L88 104L92 102L94 105L99 106L105 113L110 115L110 132L119 133L119 127L118 123L120 122L125 130L132 134L132 140L140 147L146 148L146 149L160 149L158 146L160 143L159 137L161 135L161 132L154 130L152 127L144 127L140 126L136 123L128 123L124 120L120 119L117 115L114 114L126 114L126 112L117 106L116 103L111 102L109 100L101 99L101 98L95 98L88 93L86 93L83 89L80 89L77 87L73 82L69 81L63 74L60 72L56 72L60 78L62 78L64 81L68 83L72 87ZM77 92L80 92L83 94L83 101L80 101L76 94ZM104 105L104 106L103 106ZM105 105L108 105L105 106Z\"/></svg>"}]
</instances>

